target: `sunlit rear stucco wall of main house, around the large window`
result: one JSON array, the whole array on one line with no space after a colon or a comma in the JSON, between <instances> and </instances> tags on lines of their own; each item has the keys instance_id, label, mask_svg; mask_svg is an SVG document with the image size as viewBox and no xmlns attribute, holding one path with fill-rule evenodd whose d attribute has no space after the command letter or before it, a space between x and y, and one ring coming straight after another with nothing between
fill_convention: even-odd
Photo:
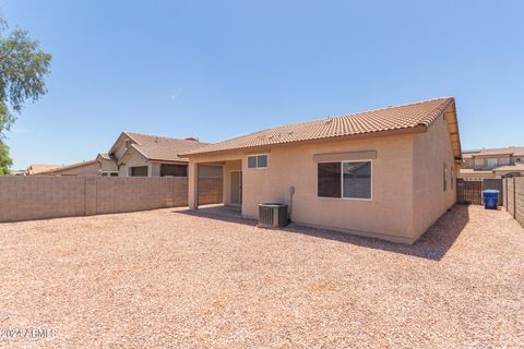
<instances>
[{"instance_id":1,"label":"sunlit rear stucco wall of main house, around the large window","mask_svg":"<svg viewBox=\"0 0 524 349\"><path fill-rule=\"evenodd\" d=\"M318 164L313 155L364 151L377 152L372 160L372 200L318 197ZM278 147L267 154L266 169L248 169L249 154L245 153L193 157L190 176L199 161L241 159L245 216L258 217L258 205L262 202L289 204L289 188L295 186L294 221L403 242L410 242L416 234L413 225L413 135ZM194 204L191 182L190 178L190 204L192 200ZM227 185L224 194L229 195Z\"/></svg>"}]
</instances>

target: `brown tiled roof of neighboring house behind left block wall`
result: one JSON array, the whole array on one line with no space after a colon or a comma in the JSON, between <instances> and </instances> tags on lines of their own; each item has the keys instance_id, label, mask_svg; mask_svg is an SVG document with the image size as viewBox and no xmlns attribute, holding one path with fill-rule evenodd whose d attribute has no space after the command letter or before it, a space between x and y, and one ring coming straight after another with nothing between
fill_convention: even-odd
<instances>
[{"instance_id":1,"label":"brown tiled roof of neighboring house behind left block wall","mask_svg":"<svg viewBox=\"0 0 524 349\"><path fill-rule=\"evenodd\" d=\"M123 132L122 134L129 136L135 143L131 144L126 151L120 163L129 155L128 153L132 152L138 152L150 160L187 161L187 158L179 157L178 154L207 145L207 143L200 142L193 137L171 139L134 132Z\"/></svg>"}]
</instances>

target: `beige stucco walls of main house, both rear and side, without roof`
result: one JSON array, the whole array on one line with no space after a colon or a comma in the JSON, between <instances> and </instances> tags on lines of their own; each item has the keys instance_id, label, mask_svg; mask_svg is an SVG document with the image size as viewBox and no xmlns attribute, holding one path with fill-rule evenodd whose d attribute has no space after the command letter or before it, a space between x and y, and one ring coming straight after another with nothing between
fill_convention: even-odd
<instances>
[{"instance_id":1,"label":"beige stucco walls of main house, both rear and side, without roof","mask_svg":"<svg viewBox=\"0 0 524 349\"><path fill-rule=\"evenodd\" d=\"M370 154L369 151L377 154L371 159L371 200L317 195L318 164L314 155L345 152ZM190 207L198 207L198 181L193 178L196 165L212 161L235 164L235 160L237 164L241 161L241 213L247 217L258 217L260 203L279 202L291 205L290 219L299 224L412 243L454 204L456 197L456 185L451 185L451 168L456 169L456 166L443 116L425 133L258 149L254 154L269 155L269 167L265 169L248 169L247 156L250 154L253 153L237 151L190 157ZM448 166L445 192L444 163ZM225 166L225 197L229 193L227 172ZM453 180L455 178L456 173ZM290 186L295 188L293 203Z\"/></svg>"}]
</instances>

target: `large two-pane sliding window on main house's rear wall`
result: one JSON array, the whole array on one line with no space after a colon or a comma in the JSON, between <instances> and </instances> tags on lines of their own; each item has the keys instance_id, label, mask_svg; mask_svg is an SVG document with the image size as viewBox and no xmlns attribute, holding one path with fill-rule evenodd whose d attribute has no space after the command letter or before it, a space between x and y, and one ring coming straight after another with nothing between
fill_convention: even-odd
<instances>
[{"instance_id":1,"label":"large two-pane sliding window on main house's rear wall","mask_svg":"<svg viewBox=\"0 0 524 349\"><path fill-rule=\"evenodd\" d=\"M371 161L318 164L320 197L371 198Z\"/></svg>"}]
</instances>

